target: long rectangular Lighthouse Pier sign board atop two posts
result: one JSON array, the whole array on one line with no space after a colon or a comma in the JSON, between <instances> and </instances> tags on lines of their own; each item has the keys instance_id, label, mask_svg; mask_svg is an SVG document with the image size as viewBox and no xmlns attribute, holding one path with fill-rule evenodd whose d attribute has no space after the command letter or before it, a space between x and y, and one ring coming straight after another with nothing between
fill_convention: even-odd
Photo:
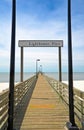
<instances>
[{"instance_id":1,"label":"long rectangular Lighthouse Pier sign board atop two posts","mask_svg":"<svg viewBox=\"0 0 84 130\"><path fill-rule=\"evenodd\" d=\"M63 47L63 40L19 40L19 47Z\"/></svg>"}]
</instances>

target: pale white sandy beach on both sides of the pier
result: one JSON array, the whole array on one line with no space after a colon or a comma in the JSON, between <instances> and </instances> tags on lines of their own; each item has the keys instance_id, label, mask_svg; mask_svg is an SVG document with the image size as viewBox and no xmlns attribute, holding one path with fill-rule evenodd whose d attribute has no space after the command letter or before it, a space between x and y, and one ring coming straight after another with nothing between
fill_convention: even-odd
<instances>
[{"instance_id":1,"label":"pale white sandy beach on both sides of the pier","mask_svg":"<svg viewBox=\"0 0 84 130\"><path fill-rule=\"evenodd\" d=\"M68 84L67 81L63 81L63 83ZM17 84L17 83L15 83ZM73 86L76 89L79 89L84 92L84 80L77 80L73 82ZM9 88L9 83L0 83L0 93Z\"/></svg>"}]
</instances>

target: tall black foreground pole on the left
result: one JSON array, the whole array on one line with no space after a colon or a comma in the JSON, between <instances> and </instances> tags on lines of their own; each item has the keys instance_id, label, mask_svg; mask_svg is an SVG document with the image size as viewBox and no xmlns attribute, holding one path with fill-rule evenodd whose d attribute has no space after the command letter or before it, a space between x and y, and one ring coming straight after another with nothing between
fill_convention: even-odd
<instances>
[{"instance_id":1,"label":"tall black foreground pole on the left","mask_svg":"<svg viewBox=\"0 0 84 130\"><path fill-rule=\"evenodd\" d=\"M8 128L7 128L7 130L13 130L14 74L15 74L15 21L16 21L16 0L12 0L12 35L11 35L9 109L8 109Z\"/></svg>"}]
</instances>

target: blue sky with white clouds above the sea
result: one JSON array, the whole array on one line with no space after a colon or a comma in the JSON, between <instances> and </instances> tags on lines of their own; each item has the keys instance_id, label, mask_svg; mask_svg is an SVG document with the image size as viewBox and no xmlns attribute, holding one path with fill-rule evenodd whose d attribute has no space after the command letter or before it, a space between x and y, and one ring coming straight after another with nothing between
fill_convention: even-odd
<instances>
[{"instance_id":1,"label":"blue sky with white clouds above the sea","mask_svg":"<svg viewBox=\"0 0 84 130\"><path fill-rule=\"evenodd\" d=\"M16 0L15 70L20 71L18 40L63 40L62 71L68 70L67 1ZM10 70L12 0L0 0L0 72ZM72 0L73 71L84 72L84 0ZM24 48L24 71L58 71L58 48Z\"/></svg>"}]
</instances>

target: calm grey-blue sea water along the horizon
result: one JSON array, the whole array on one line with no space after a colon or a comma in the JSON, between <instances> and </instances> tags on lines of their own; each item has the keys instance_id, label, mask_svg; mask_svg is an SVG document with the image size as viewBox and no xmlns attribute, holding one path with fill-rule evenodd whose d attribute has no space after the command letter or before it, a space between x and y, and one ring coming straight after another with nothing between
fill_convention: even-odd
<instances>
[{"instance_id":1,"label":"calm grey-blue sea water along the horizon","mask_svg":"<svg viewBox=\"0 0 84 130\"><path fill-rule=\"evenodd\" d=\"M28 79L29 77L33 76L35 73L24 73L24 80ZM57 79L59 77L59 73L45 73L46 75ZM68 74L63 72L62 73L62 80L67 81L68 80ZM84 72L80 73L73 73L73 80L84 80ZM20 81L20 73L15 73L15 82ZM0 73L0 83L2 82L9 82L9 73Z\"/></svg>"}]
</instances>

